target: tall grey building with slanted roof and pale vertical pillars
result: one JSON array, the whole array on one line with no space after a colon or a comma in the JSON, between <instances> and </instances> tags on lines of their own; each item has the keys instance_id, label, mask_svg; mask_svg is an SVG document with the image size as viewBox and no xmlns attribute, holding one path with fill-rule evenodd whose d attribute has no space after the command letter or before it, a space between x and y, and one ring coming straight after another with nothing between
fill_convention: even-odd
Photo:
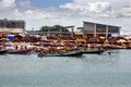
<instances>
[{"instance_id":1,"label":"tall grey building with slanted roof and pale vertical pillars","mask_svg":"<svg viewBox=\"0 0 131 87\"><path fill-rule=\"evenodd\" d=\"M120 26L106 25L99 23L84 22L83 23L83 33L91 34L94 37L109 35L120 35Z\"/></svg>"}]
</instances>

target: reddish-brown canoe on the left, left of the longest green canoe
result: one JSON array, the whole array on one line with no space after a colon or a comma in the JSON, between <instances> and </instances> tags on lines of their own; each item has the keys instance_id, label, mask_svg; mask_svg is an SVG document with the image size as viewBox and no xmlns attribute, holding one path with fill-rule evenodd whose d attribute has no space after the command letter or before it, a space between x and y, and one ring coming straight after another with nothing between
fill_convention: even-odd
<instances>
[{"instance_id":1,"label":"reddish-brown canoe on the left, left of the longest green canoe","mask_svg":"<svg viewBox=\"0 0 131 87\"><path fill-rule=\"evenodd\" d=\"M27 54L32 51L32 49L20 49L20 50L10 50L8 53L10 54Z\"/></svg>"}]
</instances>

